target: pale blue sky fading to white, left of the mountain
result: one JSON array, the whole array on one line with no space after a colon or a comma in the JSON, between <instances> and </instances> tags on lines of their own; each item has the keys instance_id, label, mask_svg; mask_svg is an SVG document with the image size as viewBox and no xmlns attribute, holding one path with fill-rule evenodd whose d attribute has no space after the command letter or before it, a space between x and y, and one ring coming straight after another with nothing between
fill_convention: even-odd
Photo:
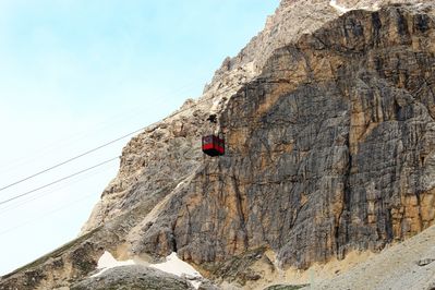
<instances>
[{"instance_id":1,"label":"pale blue sky fading to white, left of the mountain","mask_svg":"<svg viewBox=\"0 0 435 290\"><path fill-rule=\"evenodd\" d=\"M0 188L198 97L278 0L0 0ZM128 140L0 201L121 154ZM114 161L0 206L0 275L76 237Z\"/></svg>"}]
</instances>

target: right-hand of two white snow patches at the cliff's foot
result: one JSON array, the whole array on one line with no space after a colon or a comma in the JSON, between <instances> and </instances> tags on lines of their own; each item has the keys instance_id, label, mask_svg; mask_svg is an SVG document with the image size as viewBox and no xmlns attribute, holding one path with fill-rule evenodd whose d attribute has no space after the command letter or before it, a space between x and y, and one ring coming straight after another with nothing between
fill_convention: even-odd
<instances>
[{"instance_id":1,"label":"right-hand of two white snow patches at the cliff's foot","mask_svg":"<svg viewBox=\"0 0 435 290\"><path fill-rule=\"evenodd\" d=\"M203 276L201 276L200 273L195 270L194 267L192 267L190 264L185 263L184 261L180 259L177 256L177 253L173 252L169 256L166 257L166 262L160 263L160 264L152 264L149 265L153 268L167 271L173 275L177 275L179 277L186 277L190 282L197 289L201 285L201 279ZM196 281L195 281L196 280Z\"/></svg>"}]
</instances>

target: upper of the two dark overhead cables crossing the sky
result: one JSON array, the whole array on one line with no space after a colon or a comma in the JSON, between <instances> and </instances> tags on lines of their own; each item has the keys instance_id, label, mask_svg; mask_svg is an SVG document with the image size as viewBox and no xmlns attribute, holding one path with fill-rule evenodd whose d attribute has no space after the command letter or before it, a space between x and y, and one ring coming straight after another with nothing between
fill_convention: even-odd
<instances>
[{"instance_id":1,"label":"upper of the two dark overhead cables crossing the sky","mask_svg":"<svg viewBox=\"0 0 435 290\"><path fill-rule=\"evenodd\" d=\"M233 88L232 88L232 87L231 87L231 88L227 88L227 89L225 89L223 92L220 92L219 94L225 94L225 93L227 93L227 92L230 92L231 89L233 89ZM208 97L208 98L204 98L204 99L200 100L198 102L194 104L192 107L196 107L196 106L198 106L198 105L201 105L201 104L203 104L203 102L205 102L205 101L207 101L207 100L210 100L210 99L214 98L214 97L215 97L215 95L212 95L212 96ZM28 176L28 177L26 177L26 178L23 178L23 179L21 179L21 180L17 180L17 181L15 181L15 182L13 182L13 183L10 183L10 184L8 184L8 185L5 185L5 186L3 186L3 188L0 188L0 191L4 191L5 189L9 189L9 188L14 186L14 185L16 185L16 184L20 184L20 183L22 183L22 182L24 182L24 181L27 181L27 180L29 180L29 179L33 179L33 178L35 178L35 177L37 177L37 176L40 176L40 174L43 174L43 173L45 173L45 172L48 172L48 171L52 170L52 169L56 169L56 168L58 168L58 167L61 167L61 166L63 166L63 165L65 165L65 164L71 162L71 161L73 161L73 160L76 160L76 159L78 159L78 158L81 158L81 157L83 157L83 156L89 155L89 154L92 154L92 153L94 153L94 152L96 152L96 150L99 150L99 149L101 149L101 148L104 148L104 147L106 147L106 146L109 146L110 144L113 144L113 143L116 143L116 142L118 142L118 141L120 141L120 140L123 140L123 138L125 138L125 137L128 137L128 136L131 136L131 135L133 135L133 134L135 134L135 133L137 133L137 132L141 132L142 130L144 130L144 129L146 129L146 128L148 128L148 126L155 125L155 124L157 124L157 123L159 123L159 122L161 122L161 121L164 121L164 120L166 120L166 119L168 119L168 118L173 118L174 116L178 116L178 114L180 114L180 113L182 113L182 112L184 112L184 111L186 111L186 110L190 110L190 109L192 109L192 107L186 107L186 108L184 108L184 109L180 109L180 110L173 112L172 114L170 114L169 117L164 118L164 119L160 120L160 121L157 121L157 122L154 122L154 123L152 123L152 124L149 124L149 125L143 126L143 128L138 129L138 130L135 130L135 131L133 131L133 132L130 132L130 133L128 133L128 134L125 134L125 135L123 135L123 136L120 136L120 137L116 138L116 140L109 141L108 143L105 143L105 144L102 144L102 145L100 145L100 146L98 146L98 147L95 147L95 148L90 149L90 150L87 150L87 152L85 152L85 153L82 153L82 154L80 154L80 155L77 155L77 156L74 156L74 157L72 157L72 158L70 158L70 159L67 159L67 160L61 161L61 162L59 162L59 164L57 164L57 165L53 165L53 166L51 166L51 167L49 167L49 168L46 168L46 169L44 169L44 170L41 170L41 171L39 171L39 172L36 172L36 173L32 174L32 176ZM0 203L0 205L1 205L1 203Z\"/></svg>"}]
</instances>

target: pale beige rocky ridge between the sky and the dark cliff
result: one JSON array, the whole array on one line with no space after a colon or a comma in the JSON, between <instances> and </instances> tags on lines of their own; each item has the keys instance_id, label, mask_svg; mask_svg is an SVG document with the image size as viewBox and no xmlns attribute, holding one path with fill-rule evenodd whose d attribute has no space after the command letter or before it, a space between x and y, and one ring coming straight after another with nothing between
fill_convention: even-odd
<instances>
[{"instance_id":1,"label":"pale beige rocky ridge between the sky and the dark cliff","mask_svg":"<svg viewBox=\"0 0 435 290\"><path fill-rule=\"evenodd\" d=\"M267 19L264 31L237 57L223 61L198 100L188 100L177 114L134 137L123 150L118 177L102 193L83 232L130 210L134 203L125 201L130 201L128 196L135 195L137 189L140 196L153 195L162 188L170 192L192 173L193 168L202 164L201 135L217 130L206 124L205 119L210 113L221 113L231 96L261 74L275 49L337 17L337 11L328 3L283 0Z\"/></svg>"}]
</instances>

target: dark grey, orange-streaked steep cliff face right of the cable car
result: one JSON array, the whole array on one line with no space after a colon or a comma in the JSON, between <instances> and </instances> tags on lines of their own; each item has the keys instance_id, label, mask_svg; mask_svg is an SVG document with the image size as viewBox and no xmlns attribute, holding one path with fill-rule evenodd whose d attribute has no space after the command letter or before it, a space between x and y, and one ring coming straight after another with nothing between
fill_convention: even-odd
<instances>
[{"instance_id":1,"label":"dark grey, orange-streaked steep cliff face right of the cable car","mask_svg":"<svg viewBox=\"0 0 435 290\"><path fill-rule=\"evenodd\" d=\"M135 246L202 264L267 244L305 268L432 225L428 9L351 11L276 50L220 116L228 154L206 159Z\"/></svg>"}]
</instances>

